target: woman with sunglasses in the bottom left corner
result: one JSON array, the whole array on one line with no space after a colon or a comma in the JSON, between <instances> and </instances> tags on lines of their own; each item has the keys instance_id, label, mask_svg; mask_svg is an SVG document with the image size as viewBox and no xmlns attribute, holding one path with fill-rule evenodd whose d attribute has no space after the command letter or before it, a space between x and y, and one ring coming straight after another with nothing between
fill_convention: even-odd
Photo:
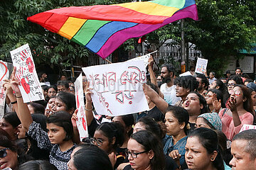
<instances>
[{"instance_id":1,"label":"woman with sunglasses in the bottom left corner","mask_svg":"<svg viewBox=\"0 0 256 170\"><path fill-rule=\"evenodd\" d=\"M14 144L9 134L0 128L0 169L15 170L19 164L29 160L30 158Z\"/></svg>"}]
</instances>

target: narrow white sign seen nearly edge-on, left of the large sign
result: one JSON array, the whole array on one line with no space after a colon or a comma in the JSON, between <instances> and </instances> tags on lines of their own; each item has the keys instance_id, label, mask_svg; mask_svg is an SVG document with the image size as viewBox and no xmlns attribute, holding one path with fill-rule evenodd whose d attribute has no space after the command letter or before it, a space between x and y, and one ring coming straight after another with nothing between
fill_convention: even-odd
<instances>
[{"instance_id":1,"label":"narrow white sign seen nearly edge-on, left of the large sign","mask_svg":"<svg viewBox=\"0 0 256 170\"><path fill-rule=\"evenodd\" d=\"M75 101L76 101L76 107L78 108L78 120L76 121L76 124L78 126L78 132L80 135L80 140L84 139L85 137L88 137L88 129L87 129L87 122L86 122L86 115L85 115L85 101L84 101L84 95L82 90L82 73L78 77L78 79L75 80Z\"/></svg>"}]
</instances>

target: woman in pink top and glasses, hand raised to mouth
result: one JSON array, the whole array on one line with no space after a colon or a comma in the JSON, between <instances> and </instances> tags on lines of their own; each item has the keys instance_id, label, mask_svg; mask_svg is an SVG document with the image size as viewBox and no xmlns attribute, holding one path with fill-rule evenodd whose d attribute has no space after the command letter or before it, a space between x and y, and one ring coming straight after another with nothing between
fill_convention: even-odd
<instances>
[{"instance_id":1,"label":"woman in pink top and glasses, hand raised to mouth","mask_svg":"<svg viewBox=\"0 0 256 170\"><path fill-rule=\"evenodd\" d=\"M223 132L228 140L240 132L242 125L252 125L254 112L250 91L243 85L237 84L230 90L228 108L222 109L218 115L223 123Z\"/></svg>"}]
</instances>

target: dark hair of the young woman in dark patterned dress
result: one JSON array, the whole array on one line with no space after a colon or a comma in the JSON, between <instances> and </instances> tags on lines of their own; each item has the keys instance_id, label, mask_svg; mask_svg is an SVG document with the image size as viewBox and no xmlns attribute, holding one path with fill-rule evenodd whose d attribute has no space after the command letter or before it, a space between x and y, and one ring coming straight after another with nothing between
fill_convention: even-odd
<instances>
[{"instance_id":1,"label":"dark hair of the young woman in dark patterned dress","mask_svg":"<svg viewBox=\"0 0 256 170\"><path fill-rule=\"evenodd\" d=\"M71 115L66 111L58 111L53 115L50 115L46 119L46 123L53 123L62 127L66 132L64 141L71 140L73 137L73 125L71 123Z\"/></svg>"}]
</instances>

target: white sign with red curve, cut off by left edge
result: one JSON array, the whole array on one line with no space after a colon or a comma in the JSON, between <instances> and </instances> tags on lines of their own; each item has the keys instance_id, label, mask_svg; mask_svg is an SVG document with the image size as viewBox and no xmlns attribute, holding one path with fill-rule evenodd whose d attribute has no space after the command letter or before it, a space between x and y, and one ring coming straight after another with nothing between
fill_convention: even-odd
<instances>
[{"instance_id":1,"label":"white sign with red curve, cut off by left edge","mask_svg":"<svg viewBox=\"0 0 256 170\"><path fill-rule=\"evenodd\" d=\"M4 79L9 79L8 63L0 60L0 118L4 116L4 106L6 102L6 91L3 88Z\"/></svg>"}]
</instances>

